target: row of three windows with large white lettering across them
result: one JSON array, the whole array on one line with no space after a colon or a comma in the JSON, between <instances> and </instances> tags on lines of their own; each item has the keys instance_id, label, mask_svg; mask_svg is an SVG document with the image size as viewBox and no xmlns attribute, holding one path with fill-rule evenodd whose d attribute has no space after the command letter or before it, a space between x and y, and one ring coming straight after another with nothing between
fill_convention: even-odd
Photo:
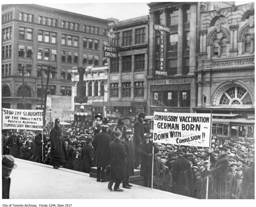
<instances>
[{"instance_id":1,"label":"row of three windows with large white lettering across them","mask_svg":"<svg viewBox=\"0 0 256 207\"><path fill-rule=\"evenodd\" d=\"M131 82L122 83L122 98L131 97ZM110 84L110 98L119 97L119 84ZM134 82L134 98L144 98L144 82Z\"/></svg>"}]
</instances>

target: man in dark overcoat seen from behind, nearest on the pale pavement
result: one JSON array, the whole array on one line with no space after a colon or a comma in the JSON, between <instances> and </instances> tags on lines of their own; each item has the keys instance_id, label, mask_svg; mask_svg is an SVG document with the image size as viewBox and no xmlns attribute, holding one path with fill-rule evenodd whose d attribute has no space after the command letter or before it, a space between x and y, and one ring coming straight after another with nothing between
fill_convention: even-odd
<instances>
[{"instance_id":1,"label":"man in dark overcoat seen from behind, nearest on the pale pavement","mask_svg":"<svg viewBox=\"0 0 256 207\"><path fill-rule=\"evenodd\" d=\"M108 189L112 190L112 186L115 180L114 191L122 192L120 189L120 183L122 179L126 176L125 161L127 153L125 151L125 145L121 142L122 133L117 130L114 134L114 141L109 144L108 156L110 159L110 173L109 173L109 184Z\"/></svg>"}]
</instances>

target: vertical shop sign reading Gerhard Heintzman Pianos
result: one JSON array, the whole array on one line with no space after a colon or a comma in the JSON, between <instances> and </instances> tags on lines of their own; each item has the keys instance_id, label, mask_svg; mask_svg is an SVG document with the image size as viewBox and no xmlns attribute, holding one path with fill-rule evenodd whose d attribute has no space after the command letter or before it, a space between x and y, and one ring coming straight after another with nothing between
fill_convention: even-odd
<instances>
[{"instance_id":1,"label":"vertical shop sign reading Gerhard Heintzman Pianos","mask_svg":"<svg viewBox=\"0 0 256 207\"><path fill-rule=\"evenodd\" d=\"M164 50L164 42L163 42L163 36L164 36L164 32L170 32L170 28L163 26L163 25L154 25L154 29L158 30L158 32L160 33L160 49L159 49L159 58L160 58L160 70L156 70L156 75L165 75L167 76L167 71L166 69L163 69L163 61L164 61L164 54L163 54L163 50Z\"/></svg>"}]
</instances>

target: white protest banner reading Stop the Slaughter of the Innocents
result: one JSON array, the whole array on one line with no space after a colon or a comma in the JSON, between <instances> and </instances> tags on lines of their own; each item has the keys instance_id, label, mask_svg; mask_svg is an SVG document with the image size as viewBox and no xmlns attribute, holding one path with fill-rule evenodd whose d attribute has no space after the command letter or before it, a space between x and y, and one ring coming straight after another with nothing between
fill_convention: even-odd
<instances>
[{"instance_id":1,"label":"white protest banner reading Stop the Slaughter of the Innocents","mask_svg":"<svg viewBox=\"0 0 256 207\"><path fill-rule=\"evenodd\" d=\"M43 110L2 108L2 129L43 131Z\"/></svg>"}]
</instances>

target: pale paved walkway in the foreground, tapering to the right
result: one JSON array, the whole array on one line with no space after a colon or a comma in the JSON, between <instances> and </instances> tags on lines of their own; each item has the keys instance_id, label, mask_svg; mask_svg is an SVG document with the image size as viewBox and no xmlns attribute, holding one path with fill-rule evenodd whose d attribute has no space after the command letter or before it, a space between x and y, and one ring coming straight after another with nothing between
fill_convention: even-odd
<instances>
[{"instance_id":1,"label":"pale paved walkway in the foreground, tapering to the right","mask_svg":"<svg viewBox=\"0 0 256 207\"><path fill-rule=\"evenodd\" d=\"M53 169L17 158L15 163L17 168L10 176L10 199L191 199L139 185L114 192L108 190L108 182L96 182L96 178L86 173Z\"/></svg>"}]
</instances>

